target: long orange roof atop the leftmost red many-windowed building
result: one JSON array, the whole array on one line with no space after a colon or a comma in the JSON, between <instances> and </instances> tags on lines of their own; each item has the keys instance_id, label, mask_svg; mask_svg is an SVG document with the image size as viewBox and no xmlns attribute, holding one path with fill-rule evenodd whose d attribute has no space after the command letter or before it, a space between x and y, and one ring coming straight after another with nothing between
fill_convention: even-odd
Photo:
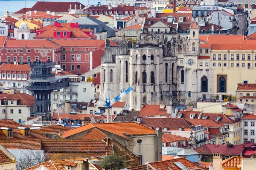
<instances>
[{"instance_id":1,"label":"long orange roof atop the leftmost red many-windowed building","mask_svg":"<svg viewBox=\"0 0 256 170\"><path fill-rule=\"evenodd\" d=\"M6 40L6 48L56 48L58 45L49 40Z\"/></svg>"}]
</instances>

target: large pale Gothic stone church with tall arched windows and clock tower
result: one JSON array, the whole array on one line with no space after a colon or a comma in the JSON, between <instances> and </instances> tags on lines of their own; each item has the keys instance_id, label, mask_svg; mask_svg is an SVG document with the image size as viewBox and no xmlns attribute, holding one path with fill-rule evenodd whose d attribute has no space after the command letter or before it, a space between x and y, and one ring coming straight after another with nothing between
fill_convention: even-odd
<instances>
[{"instance_id":1,"label":"large pale Gothic stone church with tall arched windows and clock tower","mask_svg":"<svg viewBox=\"0 0 256 170\"><path fill-rule=\"evenodd\" d=\"M130 86L134 90L123 101L130 109L140 110L144 103L195 106L203 94L213 93L213 71L198 69L200 54L199 26L190 26L186 40L179 34L165 42L163 34L147 34L137 42L108 45L102 55L101 93L111 89L111 98ZM210 88L212 87L212 88ZM115 92L114 92L115 91Z\"/></svg>"}]
</instances>

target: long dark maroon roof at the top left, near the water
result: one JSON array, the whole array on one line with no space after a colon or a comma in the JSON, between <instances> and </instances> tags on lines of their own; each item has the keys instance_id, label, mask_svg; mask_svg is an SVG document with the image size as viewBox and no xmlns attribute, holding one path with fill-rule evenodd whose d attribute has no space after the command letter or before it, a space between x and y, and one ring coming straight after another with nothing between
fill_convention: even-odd
<instances>
[{"instance_id":1,"label":"long dark maroon roof at the top left, near the water","mask_svg":"<svg viewBox=\"0 0 256 170\"><path fill-rule=\"evenodd\" d=\"M71 8L74 9L75 8L75 4L76 4L76 8L79 9L80 4L81 3L77 3L77 2L45 2L45 1L38 1L37 3L35 3L34 6L32 6L32 8L30 8L30 11L55 11L55 12L69 12L69 8L70 8L70 4L71 4ZM83 9L85 6L83 4L81 4L81 8Z\"/></svg>"}]
</instances>

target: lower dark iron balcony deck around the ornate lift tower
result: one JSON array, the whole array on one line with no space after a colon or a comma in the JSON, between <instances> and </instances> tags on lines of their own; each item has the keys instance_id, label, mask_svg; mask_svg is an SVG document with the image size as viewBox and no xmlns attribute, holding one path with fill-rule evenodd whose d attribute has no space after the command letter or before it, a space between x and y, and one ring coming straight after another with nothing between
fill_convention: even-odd
<instances>
[{"instance_id":1,"label":"lower dark iron balcony deck around the ornate lift tower","mask_svg":"<svg viewBox=\"0 0 256 170\"><path fill-rule=\"evenodd\" d=\"M38 84L31 84L26 87L27 90L33 91L33 90L54 90L54 89L61 89L64 87L67 87L69 82L54 82L51 83L51 85L46 85L42 83L41 85Z\"/></svg>"}]
</instances>

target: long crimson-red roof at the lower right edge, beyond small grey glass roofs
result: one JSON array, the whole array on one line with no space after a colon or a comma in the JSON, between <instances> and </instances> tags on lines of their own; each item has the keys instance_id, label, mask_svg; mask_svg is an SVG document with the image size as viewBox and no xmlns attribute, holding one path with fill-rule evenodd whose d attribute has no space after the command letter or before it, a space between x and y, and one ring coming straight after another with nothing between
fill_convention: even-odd
<instances>
[{"instance_id":1,"label":"long crimson-red roof at the lower right edge, beyond small grey glass roofs","mask_svg":"<svg viewBox=\"0 0 256 170\"><path fill-rule=\"evenodd\" d=\"M253 142L246 142L240 145L233 144L204 144L194 150L200 154L212 155L214 153L221 153L224 155L240 155L244 151L244 147L255 145Z\"/></svg>"}]
</instances>

